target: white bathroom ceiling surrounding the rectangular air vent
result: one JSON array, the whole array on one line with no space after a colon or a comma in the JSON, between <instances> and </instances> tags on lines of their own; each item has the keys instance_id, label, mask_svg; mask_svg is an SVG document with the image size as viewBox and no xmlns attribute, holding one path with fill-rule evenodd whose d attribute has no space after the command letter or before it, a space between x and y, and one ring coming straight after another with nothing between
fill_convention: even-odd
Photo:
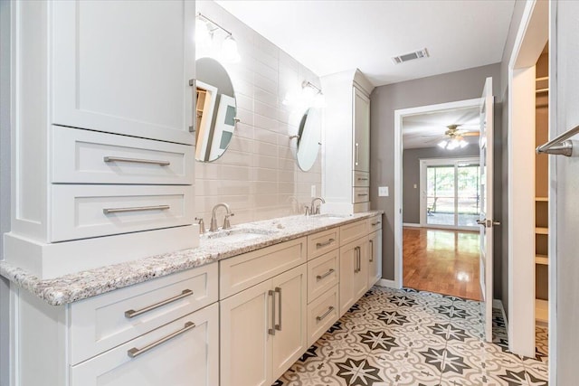
<instances>
[{"instance_id":1,"label":"white bathroom ceiling surrounding the rectangular air vent","mask_svg":"<svg viewBox=\"0 0 579 386\"><path fill-rule=\"evenodd\" d=\"M319 76L358 68L375 86L501 60L514 0L217 1ZM391 58L427 48L430 58Z\"/></svg>"}]
</instances>

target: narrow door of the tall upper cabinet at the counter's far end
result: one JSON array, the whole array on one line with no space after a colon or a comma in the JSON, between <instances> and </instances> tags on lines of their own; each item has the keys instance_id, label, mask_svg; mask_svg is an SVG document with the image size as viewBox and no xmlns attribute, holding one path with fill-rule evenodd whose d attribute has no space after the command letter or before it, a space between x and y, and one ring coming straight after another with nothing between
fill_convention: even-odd
<instances>
[{"instance_id":1,"label":"narrow door of the tall upper cabinet at the counter's far end","mask_svg":"<svg viewBox=\"0 0 579 386\"><path fill-rule=\"evenodd\" d=\"M352 169L370 172L370 99L354 88L354 160Z\"/></svg>"}]
</instances>

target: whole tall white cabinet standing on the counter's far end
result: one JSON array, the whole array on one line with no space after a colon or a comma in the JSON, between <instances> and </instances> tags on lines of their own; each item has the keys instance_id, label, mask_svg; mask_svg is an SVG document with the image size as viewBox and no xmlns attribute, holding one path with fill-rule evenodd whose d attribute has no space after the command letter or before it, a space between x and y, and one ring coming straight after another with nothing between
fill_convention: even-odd
<instances>
[{"instance_id":1,"label":"whole tall white cabinet standing on the counter's far end","mask_svg":"<svg viewBox=\"0 0 579 386\"><path fill-rule=\"evenodd\" d=\"M362 72L346 71L321 79L326 97L324 121L331 127L324 146L322 195L328 213L370 209L370 93Z\"/></svg>"}]
</instances>

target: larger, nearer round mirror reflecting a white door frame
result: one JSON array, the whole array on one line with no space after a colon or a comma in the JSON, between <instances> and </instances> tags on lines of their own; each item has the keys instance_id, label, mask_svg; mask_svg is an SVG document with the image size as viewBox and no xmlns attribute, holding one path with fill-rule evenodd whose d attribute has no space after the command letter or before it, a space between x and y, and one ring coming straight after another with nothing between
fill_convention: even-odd
<instances>
[{"instance_id":1,"label":"larger, nearer round mirror reflecting a white door frame","mask_svg":"<svg viewBox=\"0 0 579 386\"><path fill-rule=\"evenodd\" d=\"M211 162L227 150L237 121L232 80L219 61L201 58L196 63L195 159Z\"/></svg>"}]
</instances>

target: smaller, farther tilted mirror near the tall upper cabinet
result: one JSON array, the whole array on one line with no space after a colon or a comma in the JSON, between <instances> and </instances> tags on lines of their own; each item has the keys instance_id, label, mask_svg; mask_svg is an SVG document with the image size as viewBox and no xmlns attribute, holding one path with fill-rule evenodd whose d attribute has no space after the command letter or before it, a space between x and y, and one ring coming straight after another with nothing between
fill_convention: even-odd
<instances>
[{"instance_id":1,"label":"smaller, farther tilted mirror near the tall upper cabinet","mask_svg":"<svg viewBox=\"0 0 579 386\"><path fill-rule=\"evenodd\" d=\"M298 151L296 158L301 170L307 172L318 158L322 131L321 111L308 108L299 122Z\"/></svg>"}]
</instances>

